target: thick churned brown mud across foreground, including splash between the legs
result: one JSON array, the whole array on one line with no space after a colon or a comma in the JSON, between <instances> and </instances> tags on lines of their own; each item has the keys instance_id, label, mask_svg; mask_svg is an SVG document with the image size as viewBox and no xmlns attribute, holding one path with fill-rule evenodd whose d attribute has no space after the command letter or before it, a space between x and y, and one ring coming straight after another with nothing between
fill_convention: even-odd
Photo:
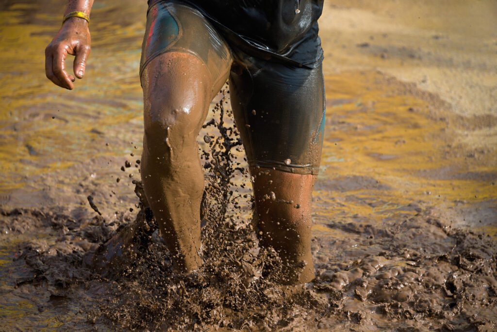
<instances>
[{"instance_id":1,"label":"thick churned brown mud across foreground, including splash between the legs","mask_svg":"<svg viewBox=\"0 0 497 332\"><path fill-rule=\"evenodd\" d=\"M49 289L50 299L67 299L80 308L82 331L497 329L496 242L452 228L430 208L384 223L329 221L331 231L346 237L313 239L316 279L278 285L281 260L259 247L246 217L253 205L248 170L235 153L241 141L228 124L225 98L204 126L212 132L201 152L207 185L199 271L173 273L141 181L132 180L138 212L116 211L112 221L105 213L77 217L64 208L0 210L1 239L35 234L15 245L16 289ZM330 185L342 191L351 179L364 180ZM127 234L122 243L112 240L118 233ZM121 251L88 264L109 249Z\"/></svg>"}]
</instances>

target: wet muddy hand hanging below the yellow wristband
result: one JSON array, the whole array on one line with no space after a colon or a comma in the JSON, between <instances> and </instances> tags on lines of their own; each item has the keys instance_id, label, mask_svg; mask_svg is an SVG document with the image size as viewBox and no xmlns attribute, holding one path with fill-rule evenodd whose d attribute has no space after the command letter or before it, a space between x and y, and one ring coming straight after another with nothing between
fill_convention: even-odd
<instances>
[{"instance_id":1,"label":"wet muddy hand hanging below the yellow wristband","mask_svg":"<svg viewBox=\"0 0 497 332\"><path fill-rule=\"evenodd\" d=\"M90 32L88 23L79 17L71 17L59 30L54 39L45 49L45 74L53 83L69 90L74 88L76 78L66 72L66 57L76 56L74 60L74 75L82 79L86 59L90 54Z\"/></svg>"}]
</instances>

